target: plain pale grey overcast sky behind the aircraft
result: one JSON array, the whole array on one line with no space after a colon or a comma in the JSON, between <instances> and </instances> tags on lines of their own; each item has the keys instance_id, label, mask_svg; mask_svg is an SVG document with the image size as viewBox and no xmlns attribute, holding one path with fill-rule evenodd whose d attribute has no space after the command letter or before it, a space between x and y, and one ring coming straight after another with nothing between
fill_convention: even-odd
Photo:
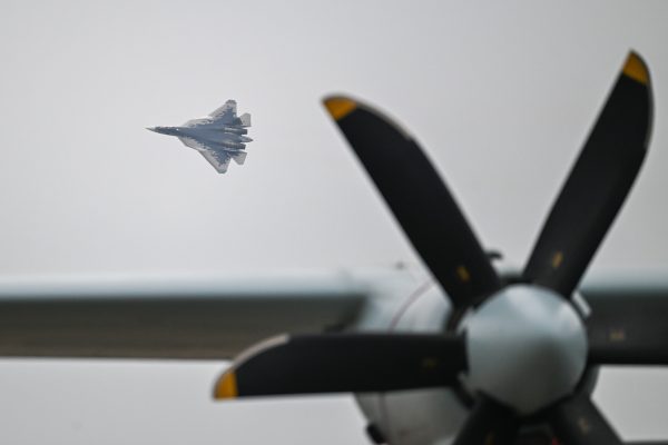
<instances>
[{"instance_id":1,"label":"plain pale grey overcast sky behind the aircraft","mask_svg":"<svg viewBox=\"0 0 668 445\"><path fill-rule=\"evenodd\" d=\"M521 265L629 48L654 78L652 145L591 269L668 270L667 18L659 1L6 1L0 274L415 260L325 115L330 92L403 122L483 244ZM229 98L255 141L227 175L144 129ZM365 443L347 397L214 405L222 367L3 362L0 441ZM668 397L667 372L603 377L622 435L668 437L661 398L642 409Z\"/></svg>"}]
</instances>

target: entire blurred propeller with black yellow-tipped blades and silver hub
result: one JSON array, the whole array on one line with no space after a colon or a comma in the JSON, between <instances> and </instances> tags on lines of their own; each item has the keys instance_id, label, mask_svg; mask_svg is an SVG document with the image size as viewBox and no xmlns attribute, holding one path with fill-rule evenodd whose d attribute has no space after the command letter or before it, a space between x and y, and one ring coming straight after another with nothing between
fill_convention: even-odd
<instances>
[{"instance_id":1,"label":"entire blurred propeller with black yellow-tipped blades and silver hub","mask_svg":"<svg viewBox=\"0 0 668 445\"><path fill-rule=\"evenodd\" d=\"M529 419L547 423L568 445L620 444L579 382L588 366L668 364L666 343L642 334L660 333L665 339L667 330L659 317L644 326L626 312L628 301L593 305L593 316L583 319L571 298L647 151L651 89L640 57L628 56L538 237L522 284L505 287L414 139L357 100L336 96L324 102L453 313L469 310L456 326L462 334L276 337L237 358L217 382L215 396L461 388L463 383L477 402L455 445L511 444Z\"/></svg>"}]
</instances>

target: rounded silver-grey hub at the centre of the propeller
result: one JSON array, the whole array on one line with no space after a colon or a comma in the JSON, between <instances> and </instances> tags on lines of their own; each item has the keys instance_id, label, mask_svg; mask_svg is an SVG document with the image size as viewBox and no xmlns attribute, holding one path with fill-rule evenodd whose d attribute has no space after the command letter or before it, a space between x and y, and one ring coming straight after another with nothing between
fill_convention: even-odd
<instances>
[{"instance_id":1,"label":"rounded silver-grey hub at the centre of the propeller","mask_svg":"<svg viewBox=\"0 0 668 445\"><path fill-rule=\"evenodd\" d=\"M513 285L463 322L466 383L528 415L572 393L587 365L587 335L559 294Z\"/></svg>"}]
</instances>

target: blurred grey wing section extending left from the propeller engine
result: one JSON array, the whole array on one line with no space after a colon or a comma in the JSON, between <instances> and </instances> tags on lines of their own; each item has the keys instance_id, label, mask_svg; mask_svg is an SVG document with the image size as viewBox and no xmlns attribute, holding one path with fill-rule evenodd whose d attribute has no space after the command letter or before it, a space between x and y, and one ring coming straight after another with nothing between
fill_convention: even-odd
<instances>
[{"instance_id":1,"label":"blurred grey wing section extending left from the propeller engine","mask_svg":"<svg viewBox=\"0 0 668 445\"><path fill-rule=\"evenodd\" d=\"M343 274L187 280L0 280L0 356L225 359L285 332L355 320Z\"/></svg>"}]
</instances>

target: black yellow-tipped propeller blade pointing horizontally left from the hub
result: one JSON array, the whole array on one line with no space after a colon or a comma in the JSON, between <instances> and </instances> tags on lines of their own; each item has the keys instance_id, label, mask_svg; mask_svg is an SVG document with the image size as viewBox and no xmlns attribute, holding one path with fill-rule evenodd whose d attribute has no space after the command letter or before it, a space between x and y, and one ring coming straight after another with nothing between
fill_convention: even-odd
<instances>
[{"instance_id":1,"label":"black yellow-tipped propeller blade pointing horizontally left from the hub","mask_svg":"<svg viewBox=\"0 0 668 445\"><path fill-rule=\"evenodd\" d=\"M422 334L278 336L242 354L215 398L448 386L466 368L462 338Z\"/></svg>"}]
</instances>

